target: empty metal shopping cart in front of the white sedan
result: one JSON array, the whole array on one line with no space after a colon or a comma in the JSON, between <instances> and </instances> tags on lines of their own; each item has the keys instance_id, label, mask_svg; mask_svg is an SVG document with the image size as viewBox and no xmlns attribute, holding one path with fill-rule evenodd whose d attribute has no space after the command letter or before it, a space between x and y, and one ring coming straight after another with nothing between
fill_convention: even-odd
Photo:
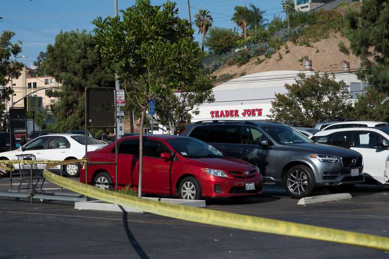
<instances>
[{"instance_id":1,"label":"empty metal shopping cart in front of the white sedan","mask_svg":"<svg viewBox=\"0 0 389 259\"><path fill-rule=\"evenodd\" d=\"M45 168L45 164L43 163L43 160L42 163L39 163L39 160L37 160L37 158L33 154L16 155L16 157L18 160L21 161L19 163L20 179L16 179L20 181L18 193L37 193L37 187L39 189L38 192L42 192L42 187L45 183L45 177L43 176L43 169ZM25 186L24 184L27 184L27 186Z\"/></svg>"}]
</instances>

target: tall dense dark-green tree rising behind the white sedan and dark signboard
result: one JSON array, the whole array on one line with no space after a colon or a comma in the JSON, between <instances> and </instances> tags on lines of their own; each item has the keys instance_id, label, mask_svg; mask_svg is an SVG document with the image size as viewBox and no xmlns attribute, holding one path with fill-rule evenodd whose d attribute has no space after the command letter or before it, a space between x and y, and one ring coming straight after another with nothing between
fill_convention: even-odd
<instances>
[{"instance_id":1,"label":"tall dense dark-green tree rising behind the white sedan and dark signboard","mask_svg":"<svg viewBox=\"0 0 389 259\"><path fill-rule=\"evenodd\" d=\"M51 93L60 98L52 106L52 116L56 120L54 130L82 129L85 122L85 88L114 87L113 73L103 69L96 43L86 31L59 33L54 45L47 46L46 53L46 73L54 75L57 81L63 81L61 91Z\"/></svg>"}]
</instances>

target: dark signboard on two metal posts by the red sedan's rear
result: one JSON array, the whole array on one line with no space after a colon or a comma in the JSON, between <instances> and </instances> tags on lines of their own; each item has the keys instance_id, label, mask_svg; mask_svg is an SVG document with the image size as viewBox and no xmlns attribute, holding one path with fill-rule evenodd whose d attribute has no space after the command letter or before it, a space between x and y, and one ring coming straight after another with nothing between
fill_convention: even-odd
<instances>
[{"instance_id":1,"label":"dark signboard on two metal posts by the red sedan's rear","mask_svg":"<svg viewBox=\"0 0 389 259\"><path fill-rule=\"evenodd\" d=\"M88 184L88 164L115 164L115 189L118 189L118 123L117 97L113 88L85 88L85 158L88 156L87 130L113 128L115 134L115 162L85 162L85 184Z\"/></svg>"}]
</instances>

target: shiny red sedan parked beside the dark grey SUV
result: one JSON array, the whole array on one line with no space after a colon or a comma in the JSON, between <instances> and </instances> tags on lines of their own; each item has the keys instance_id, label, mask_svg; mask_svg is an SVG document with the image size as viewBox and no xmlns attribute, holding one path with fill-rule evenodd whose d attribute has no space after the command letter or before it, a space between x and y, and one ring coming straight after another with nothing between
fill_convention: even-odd
<instances>
[{"instance_id":1,"label":"shiny red sedan parked beside the dark grey SUV","mask_svg":"<svg viewBox=\"0 0 389 259\"><path fill-rule=\"evenodd\" d=\"M143 138L142 192L181 199L234 197L262 193L258 167L226 157L213 146L190 137L153 135ZM115 161L115 143L88 152L90 161ZM138 186L139 136L118 140L118 187ZM85 170L80 172L85 183ZM88 165L88 184L112 190L115 164Z\"/></svg>"}]
</instances>

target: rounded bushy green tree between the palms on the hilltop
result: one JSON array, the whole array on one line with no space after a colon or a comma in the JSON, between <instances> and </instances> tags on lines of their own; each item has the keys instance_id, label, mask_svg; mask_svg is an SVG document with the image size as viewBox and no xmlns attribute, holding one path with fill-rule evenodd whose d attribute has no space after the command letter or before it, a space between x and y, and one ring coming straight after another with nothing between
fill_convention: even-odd
<instances>
[{"instance_id":1,"label":"rounded bushy green tree between the palms on the hilltop","mask_svg":"<svg viewBox=\"0 0 389 259\"><path fill-rule=\"evenodd\" d=\"M215 53L224 53L237 46L239 35L231 29L211 28L206 38L206 46Z\"/></svg>"}]
</instances>

